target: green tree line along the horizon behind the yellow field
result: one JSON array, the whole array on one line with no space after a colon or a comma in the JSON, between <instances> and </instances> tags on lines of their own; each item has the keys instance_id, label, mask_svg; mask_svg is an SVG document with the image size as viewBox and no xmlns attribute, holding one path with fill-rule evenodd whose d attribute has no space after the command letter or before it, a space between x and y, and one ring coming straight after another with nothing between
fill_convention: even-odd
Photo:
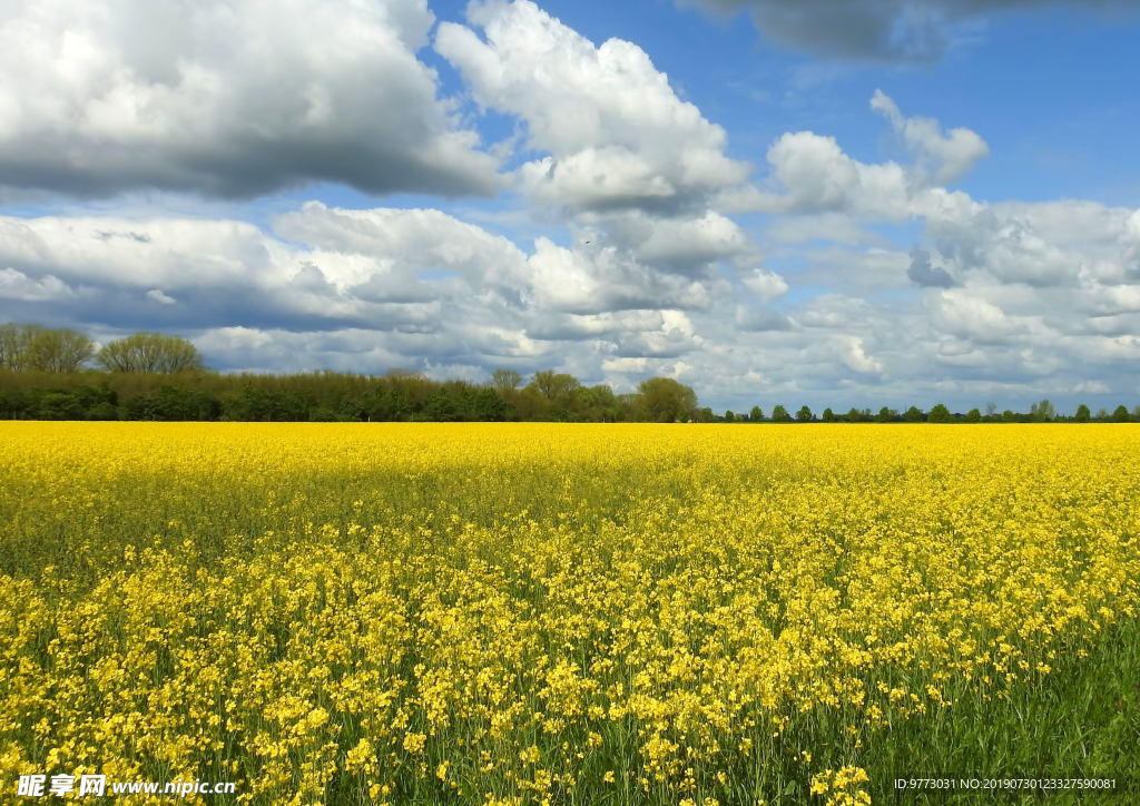
<instances>
[{"instance_id":1,"label":"green tree line along the horizon behind the yellow field","mask_svg":"<svg viewBox=\"0 0 1140 806\"><path fill-rule=\"evenodd\" d=\"M95 367L87 365L93 364ZM391 369L383 376L317 372L292 375L222 374L205 367L189 341L136 333L101 347L68 328L0 326L0 418L253 422L565 422L565 423L1043 423L1140 422L1140 406L1092 414L1081 406L1058 416L1048 400L1027 413L997 413L987 404L953 414L830 408L816 416L807 406L791 414L759 406L747 414L714 414L678 381L652 377L636 392L618 394L605 384L588 386L553 369L530 381L496 369L486 383L435 381ZM526 383L524 383L526 382Z\"/></svg>"}]
</instances>

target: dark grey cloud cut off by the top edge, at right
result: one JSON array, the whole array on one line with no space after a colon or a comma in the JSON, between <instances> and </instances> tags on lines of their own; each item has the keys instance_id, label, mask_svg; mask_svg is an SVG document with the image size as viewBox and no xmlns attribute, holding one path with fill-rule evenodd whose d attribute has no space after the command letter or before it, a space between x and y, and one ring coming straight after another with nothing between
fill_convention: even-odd
<instances>
[{"instance_id":1,"label":"dark grey cloud cut off by the top edge, at right","mask_svg":"<svg viewBox=\"0 0 1140 806\"><path fill-rule=\"evenodd\" d=\"M720 14L747 10L774 42L820 56L874 62L933 62L962 26L990 14L1057 0L676 0ZM1135 8L1137 0L1061 0L1074 8Z\"/></svg>"}]
</instances>

